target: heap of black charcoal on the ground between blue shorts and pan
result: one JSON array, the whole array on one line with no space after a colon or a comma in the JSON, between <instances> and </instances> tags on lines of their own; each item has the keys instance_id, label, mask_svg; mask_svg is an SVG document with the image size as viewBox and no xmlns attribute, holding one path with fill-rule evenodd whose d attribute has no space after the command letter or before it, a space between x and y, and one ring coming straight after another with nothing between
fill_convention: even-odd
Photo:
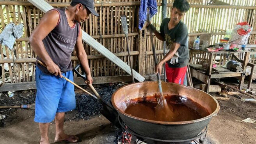
<instances>
[{"instance_id":1,"label":"heap of black charcoal on the ground between blue shorts and pan","mask_svg":"<svg viewBox=\"0 0 256 144\"><path fill-rule=\"evenodd\" d=\"M105 103L110 101L112 94L120 87L120 85L101 85L101 88L96 88ZM90 119L90 117L100 115L102 105L98 100L95 100L89 94L76 94L76 110L75 119Z\"/></svg>"}]
</instances>

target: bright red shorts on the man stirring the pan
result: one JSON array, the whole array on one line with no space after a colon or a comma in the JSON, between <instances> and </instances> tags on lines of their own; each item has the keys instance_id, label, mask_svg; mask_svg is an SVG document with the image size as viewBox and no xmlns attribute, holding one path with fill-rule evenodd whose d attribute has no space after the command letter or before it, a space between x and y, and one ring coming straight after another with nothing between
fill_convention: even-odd
<instances>
[{"instance_id":1,"label":"bright red shorts on the man stirring the pan","mask_svg":"<svg viewBox=\"0 0 256 144\"><path fill-rule=\"evenodd\" d=\"M165 63L165 71L166 71L166 78L168 82L173 82L176 84L183 84L187 66L183 68L170 68L167 63Z\"/></svg>"}]
</instances>

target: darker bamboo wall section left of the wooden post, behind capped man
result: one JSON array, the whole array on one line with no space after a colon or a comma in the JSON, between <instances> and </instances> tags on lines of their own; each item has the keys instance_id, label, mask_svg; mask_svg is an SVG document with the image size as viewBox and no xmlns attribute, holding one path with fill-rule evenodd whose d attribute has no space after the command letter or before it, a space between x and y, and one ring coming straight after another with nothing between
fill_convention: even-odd
<instances>
[{"instance_id":1,"label":"darker bamboo wall section left of the wooden post, behind capped man","mask_svg":"<svg viewBox=\"0 0 256 144\"><path fill-rule=\"evenodd\" d=\"M23 2L24 1L24 2ZM112 53L115 53L121 60L128 63L128 53L126 52L126 41L124 34L122 33L120 16L125 14L128 20L128 39L132 54L134 69L136 65L136 59L138 55L138 30L136 29L138 6L129 4L132 0L102 0L100 3L95 3L96 11L100 14L100 17L90 16L89 20L81 24L82 29L100 42L103 46L108 48ZM1 15L1 28L3 28L10 22L15 24L24 23L24 35L23 38L18 39L14 44L15 52L8 51L12 55L16 55L16 63L13 65L12 57L7 54L7 59L1 61L2 65L7 66L12 71L4 70L2 66L2 73L5 71L5 75L2 76L2 81L7 82L11 79L11 82L30 82L35 80L35 53L31 49L28 43L28 37L32 33L32 30L39 23L44 13L39 9L31 5L26 0L8 1L9 5L0 5ZM53 7L68 7L71 0L48 0ZM120 2L120 3L119 3ZM134 1L133 1L134 2ZM7 3L7 2L3 2ZM15 4L15 5L12 5ZM102 5L103 4L103 5ZM139 4L139 3L137 3ZM130 6L118 6L118 5L130 5ZM16 10L18 9L18 11ZM4 17L6 15L7 17ZM131 24L132 23L132 24ZM116 64L110 62L110 60L104 58L96 50L84 43L85 51L88 55L89 65L93 77L99 76L118 76L127 75L127 73L120 69ZM1 47L1 50L5 50ZM3 52L1 52L3 54ZM78 61L75 51L73 52L73 66ZM4 56L3 56L4 57ZM26 58L24 60L17 61L18 59ZM7 79L6 79L7 78Z\"/></svg>"}]
</instances>

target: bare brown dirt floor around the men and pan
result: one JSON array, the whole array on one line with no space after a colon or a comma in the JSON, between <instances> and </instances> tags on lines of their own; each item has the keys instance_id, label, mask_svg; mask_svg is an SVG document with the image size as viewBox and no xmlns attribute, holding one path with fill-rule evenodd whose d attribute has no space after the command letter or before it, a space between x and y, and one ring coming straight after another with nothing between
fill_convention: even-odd
<instances>
[{"instance_id":1,"label":"bare brown dirt floor around the men and pan","mask_svg":"<svg viewBox=\"0 0 256 144\"><path fill-rule=\"evenodd\" d=\"M256 91L256 82L253 83L252 89ZM77 90L76 94L80 92ZM33 101L35 91L15 92L15 94L21 94ZM212 95L216 96L216 94ZM230 98L229 101L219 101L220 111L208 125L207 137L211 139L208 144L256 144L256 123L242 121L247 117L256 119L256 102L242 102L237 96L228 97ZM243 95L240 97L249 98ZM3 104L3 101L17 101L16 104L20 105L18 100L21 100L20 97L15 97L15 95L14 98L9 98L2 94L0 105ZM0 109L0 111L4 110L7 109ZM0 114L7 116L0 120L0 144L39 144L39 128L38 124L34 122L34 110L12 108L0 112ZM96 114L95 116L76 119L77 114L77 110L66 114L64 128L66 133L80 137L82 142L78 142L78 144L116 143L117 129L105 117ZM54 121L50 124L49 131L50 142L53 144L55 137Z\"/></svg>"}]
</instances>

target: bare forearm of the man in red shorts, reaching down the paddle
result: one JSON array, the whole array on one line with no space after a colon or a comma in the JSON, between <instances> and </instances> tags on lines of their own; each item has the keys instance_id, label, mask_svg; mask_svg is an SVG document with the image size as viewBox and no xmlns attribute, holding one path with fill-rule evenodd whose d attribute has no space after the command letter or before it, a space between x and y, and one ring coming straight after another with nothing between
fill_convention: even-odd
<instances>
[{"instance_id":1,"label":"bare forearm of the man in red shorts, reaching down the paddle","mask_svg":"<svg viewBox=\"0 0 256 144\"><path fill-rule=\"evenodd\" d=\"M173 57L173 55L177 52L178 48L180 48L179 43L172 43L171 50L165 55L165 57L155 66L156 74L159 72L162 73L162 65L167 62L169 59Z\"/></svg>"}]
</instances>

